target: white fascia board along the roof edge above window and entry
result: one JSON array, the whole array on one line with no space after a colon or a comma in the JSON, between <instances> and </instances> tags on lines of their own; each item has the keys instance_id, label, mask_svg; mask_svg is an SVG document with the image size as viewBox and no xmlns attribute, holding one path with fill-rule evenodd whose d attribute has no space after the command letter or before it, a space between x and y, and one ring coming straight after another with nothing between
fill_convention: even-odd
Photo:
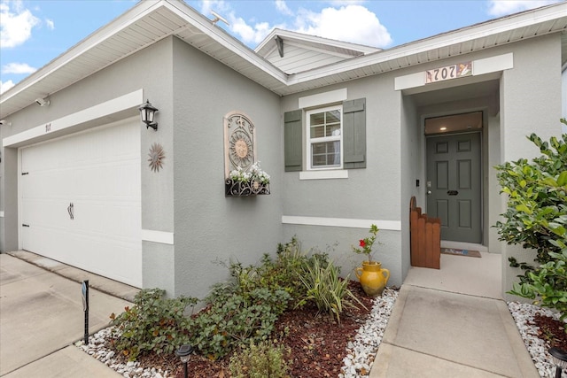
<instances>
[{"instance_id":1,"label":"white fascia board along the roof edge above window and entry","mask_svg":"<svg viewBox=\"0 0 567 378\"><path fill-rule=\"evenodd\" d=\"M322 66L311 71L294 73L290 76L288 85L291 86L305 81L313 81L335 73L356 70L362 67L384 63L389 60L407 57L408 55L416 55L453 44L469 42L489 35L508 32L519 27L529 27L548 20L561 19L563 17L567 17L567 2L549 6L546 9L523 12L516 16L511 16L510 18L487 21L482 25L465 27L421 41L410 42L399 47L394 47L391 50L382 50L363 57L352 58L332 66Z\"/></svg>"}]
</instances>

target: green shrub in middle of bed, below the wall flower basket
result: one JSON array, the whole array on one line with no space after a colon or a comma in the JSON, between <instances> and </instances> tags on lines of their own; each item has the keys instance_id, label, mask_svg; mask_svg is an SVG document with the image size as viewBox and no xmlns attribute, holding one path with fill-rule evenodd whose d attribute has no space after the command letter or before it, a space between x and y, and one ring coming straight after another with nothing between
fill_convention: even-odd
<instances>
[{"instance_id":1,"label":"green shrub in middle of bed, below the wall flower basket","mask_svg":"<svg viewBox=\"0 0 567 378\"><path fill-rule=\"evenodd\" d=\"M242 293L217 286L207 300L211 305L190 320L190 343L209 359L219 359L243 343L266 340L289 300L283 289Z\"/></svg>"}]
</instances>

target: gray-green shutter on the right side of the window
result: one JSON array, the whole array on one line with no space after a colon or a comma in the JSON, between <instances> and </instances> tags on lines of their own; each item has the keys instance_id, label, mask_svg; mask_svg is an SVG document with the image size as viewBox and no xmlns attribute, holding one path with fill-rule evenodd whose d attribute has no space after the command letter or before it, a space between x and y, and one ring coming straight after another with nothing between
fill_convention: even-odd
<instances>
[{"instance_id":1,"label":"gray-green shutter on the right side of the window","mask_svg":"<svg viewBox=\"0 0 567 378\"><path fill-rule=\"evenodd\" d=\"M366 98L343 103L343 167L366 168Z\"/></svg>"}]
</instances>

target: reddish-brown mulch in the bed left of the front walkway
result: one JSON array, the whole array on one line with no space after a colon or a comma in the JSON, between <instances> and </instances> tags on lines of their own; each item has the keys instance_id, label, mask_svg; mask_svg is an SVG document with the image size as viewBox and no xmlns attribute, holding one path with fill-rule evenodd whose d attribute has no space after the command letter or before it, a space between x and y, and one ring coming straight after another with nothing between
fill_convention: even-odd
<instances>
[{"instance_id":1,"label":"reddish-brown mulch in the bed left of the front walkway","mask_svg":"<svg viewBox=\"0 0 567 378\"><path fill-rule=\"evenodd\" d=\"M318 314L313 307L285 312L277 320L274 334L291 350L291 377L337 377L340 373L346 357L346 344L353 340L372 308L371 299L364 294L358 282L351 282L349 289L366 309L347 308L340 324L326 314ZM175 356L149 355L138 360L141 366L167 370L170 372L168 376L176 372L176 378L183 378L183 366ZM191 378L228 378L229 358L210 361L193 355L188 364L188 375Z\"/></svg>"}]
</instances>

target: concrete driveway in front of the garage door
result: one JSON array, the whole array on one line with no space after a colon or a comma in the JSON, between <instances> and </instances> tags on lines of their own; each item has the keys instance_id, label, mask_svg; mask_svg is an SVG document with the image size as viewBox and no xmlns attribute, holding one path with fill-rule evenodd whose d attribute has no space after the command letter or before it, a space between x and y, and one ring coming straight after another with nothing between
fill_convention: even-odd
<instances>
[{"instance_id":1,"label":"concrete driveway in front of the garage door","mask_svg":"<svg viewBox=\"0 0 567 378\"><path fill-rule=\"evenodd\" d=\"M81 282L89 280L91 335L108 326L112 312L131 305L95 287L126 293L120 297L137 290L29 252L12 254L0 254L0 376L116 377L72 345L84 335Z\"/></svg>"}]
</instances>

